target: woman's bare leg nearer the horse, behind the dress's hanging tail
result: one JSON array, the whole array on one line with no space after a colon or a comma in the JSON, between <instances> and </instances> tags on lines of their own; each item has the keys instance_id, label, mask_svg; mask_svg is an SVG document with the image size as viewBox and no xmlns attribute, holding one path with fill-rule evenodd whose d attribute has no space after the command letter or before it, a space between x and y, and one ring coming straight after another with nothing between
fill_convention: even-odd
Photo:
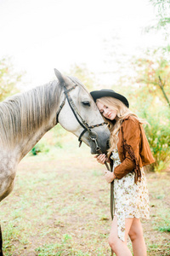
<instances>
[{"instance_id":1,"label":"woman's bare leg nearer the horse, behind the dress's hanging tail","mask_svg":"<svg viewBox=\"0 0 170 256\"><path fill-rule=\"evenodd\" d=\"M116 256L132 256L133 254L127 247L127 236L130 230L131 224L133 223L133 218L126 218L125 220L125 241L122 241L118 237L117 231L117 217L114 216L113 222L111 224L111 233L109 236L109 245Z\"/></svg>"}]
</instances>

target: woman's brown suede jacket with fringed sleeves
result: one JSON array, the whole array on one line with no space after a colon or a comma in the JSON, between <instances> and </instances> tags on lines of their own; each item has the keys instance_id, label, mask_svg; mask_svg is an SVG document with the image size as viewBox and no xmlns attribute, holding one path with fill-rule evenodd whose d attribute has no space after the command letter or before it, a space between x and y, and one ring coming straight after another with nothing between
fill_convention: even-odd
<instances>
[{"instance_id":1,"label":"woman's brown suede jacket with fringed sleeves","mask_svg":"<svg viewBox=\"0 0 170 256\"><path fill-rule=\"evenodd\" d=\"M118 134L117 149L121 164L114 169L115 176L120 179L129 172L135 172L135 182L140 180L140 167L155 162L150 151L144 129L133 116L123 120Z\"/></svg>"}]
</instances>

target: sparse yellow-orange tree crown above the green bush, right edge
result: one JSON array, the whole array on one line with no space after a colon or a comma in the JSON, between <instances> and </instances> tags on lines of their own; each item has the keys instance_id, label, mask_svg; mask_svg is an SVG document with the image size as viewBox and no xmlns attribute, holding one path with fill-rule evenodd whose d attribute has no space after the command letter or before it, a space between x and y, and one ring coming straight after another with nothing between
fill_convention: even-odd
<instances>
[{"instance_id":1,"label":"sparse yellow-orange tree crown above the green bush, right edge","mask_svg":"<svg viewBox=\"0 0 170 256\"><path fill-rule=\"evenodd\" d=\"M162 49L148 49L144 58L133 62L136 82L143 84L155 98L170 108L170 60Z\"/></svg>"}]
</instances>

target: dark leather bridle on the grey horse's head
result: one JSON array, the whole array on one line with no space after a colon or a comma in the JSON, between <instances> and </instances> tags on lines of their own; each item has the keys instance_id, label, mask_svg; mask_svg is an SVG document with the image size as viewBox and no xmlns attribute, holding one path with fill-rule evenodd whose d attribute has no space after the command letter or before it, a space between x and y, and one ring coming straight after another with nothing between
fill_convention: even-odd
<instances>
[{"instance_id":1,"label":"dark leather bridle on the grey horse's head","mask_svg":"<svg viewBox=\"0 0 170 256\"><path fill-rule=\"evenodd\" d=\"M78 109L77 109L75 103L72 101L72 98L71 98L71 96L70 96L70 94L69 94L70 91L73 90L73 89L75 89L78 85L75 84L75 85L73 85L70 89L67 89L67 88L66 88L65 83L62 83L62 86L63 86L63 88L64 88L65 98L64 98L63 102L60 104L59 109L58 109L58 111L57 111L57 113L56 113L56 124L59 123L59 113L60 113L61 109L64 107L64 105L65 105L65 100L67 99L67 101L68 101L68 103L69 103L69 106L71 107L72 113L74 113L74 116L76 117L78 123L79 123L79 124L82 126L82 128L84 129L84 130L82 131L82 133L80 134L80 136L78 137L78 141L80 142L80 143L79 143L79 147L82 145L82 136L85 134L86 131L88 131L88 133L89 133L89 138L95 143L96 151L99 151L99 150L100 150L100 147L99 147L98 141L97 141L98 135L97 135L97 133L96 133L95 131L92 131L92 129L93 129L94 127L99 127L99 126L101 126L101 125L105 125L106 123L103 122L103 123L101 123L101 124L89 126L88 123L87 123L84 119L82 119L81 114L78 112Z\"/></svg>"}]
</instances>

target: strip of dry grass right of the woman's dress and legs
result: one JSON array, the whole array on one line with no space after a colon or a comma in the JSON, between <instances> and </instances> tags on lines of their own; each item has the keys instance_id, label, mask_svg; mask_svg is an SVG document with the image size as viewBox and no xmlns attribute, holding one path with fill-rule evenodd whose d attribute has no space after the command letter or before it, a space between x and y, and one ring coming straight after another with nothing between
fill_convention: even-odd
<instances>
[{"instance_id":1,"label":"strip of dry grass right of the woman's dress and legs","mask_svg":"<svg viewBox=\"0 0 170 256\"><path fill-rule=\"evenodd\" d=\"M170 255L170 173L148 174L150 190L149 255ZM147 234L147 232L145 232Z\"/></svg>"}]
</instances>

